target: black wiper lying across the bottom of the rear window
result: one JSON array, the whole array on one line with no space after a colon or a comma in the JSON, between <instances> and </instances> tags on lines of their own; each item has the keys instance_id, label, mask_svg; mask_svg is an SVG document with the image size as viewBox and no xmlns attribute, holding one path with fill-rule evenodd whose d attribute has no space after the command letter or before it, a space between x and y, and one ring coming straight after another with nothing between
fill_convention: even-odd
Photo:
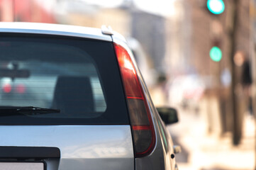
<instances>
[{"instance_id":1,"label":"black wiper lying across the bottom of the rear window","mask_svg":"<svg viewBox=\"0 0 256 170\"><path fill-rule=\"evenodd\" d=\"M0 116L8 115L40 115L60 113L60 109L40 108L34 106L0 106Z\"/></svg>"}]
</instances>

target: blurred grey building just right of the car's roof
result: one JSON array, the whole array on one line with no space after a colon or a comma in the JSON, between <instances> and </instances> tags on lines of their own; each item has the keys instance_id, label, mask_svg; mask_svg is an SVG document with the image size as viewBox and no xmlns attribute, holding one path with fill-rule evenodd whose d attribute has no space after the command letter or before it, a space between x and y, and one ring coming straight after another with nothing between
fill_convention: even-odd
<instances>
[{"instance_id":1,"label":"blurred grey building just right of the car's roof","mask_svg":"<svg viewBox=\"0 0 256 170\"><path fill-rule=\"evenodd\" d=\"M129 11L132 18L131 36L142 43L157 72L165 73L165 18L139 10Z\"/></svg>"}]
</instances>

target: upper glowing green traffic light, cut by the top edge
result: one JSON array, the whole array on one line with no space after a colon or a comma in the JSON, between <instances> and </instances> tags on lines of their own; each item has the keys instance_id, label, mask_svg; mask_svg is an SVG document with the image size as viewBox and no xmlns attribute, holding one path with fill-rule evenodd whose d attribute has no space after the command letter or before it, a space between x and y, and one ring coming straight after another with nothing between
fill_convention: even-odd
<instances>
[{"instance_id":1,"label":"upper glowing green traffic light, cut by the top edge","mask_svg":"<svg viewBox=\"0 0 256 170\"><path fill-rule=\"evenodd\" d=\"M221 14L225 10L223 0L207 0L207 8L213 14Z\"/></svg>"}]
</instances>

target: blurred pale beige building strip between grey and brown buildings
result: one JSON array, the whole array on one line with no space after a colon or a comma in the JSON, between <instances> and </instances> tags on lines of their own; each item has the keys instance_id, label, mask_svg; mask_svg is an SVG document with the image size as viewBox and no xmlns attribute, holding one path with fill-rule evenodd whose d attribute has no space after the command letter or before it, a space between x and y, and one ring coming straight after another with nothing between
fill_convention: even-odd
<instances>
[{"instance_id":1,"label":"blurred pale beige building strip between grey and brown buildings","mask_svg":"<svg viewBox=\"0 0 256 170\"><path fill-rule=\"evenodd\" d=\"M191 8L184 0L174 1L173 6L175 12L165 21L165 68L169 79L196 72L191 64Z\"/></svg>"}]
</instances>

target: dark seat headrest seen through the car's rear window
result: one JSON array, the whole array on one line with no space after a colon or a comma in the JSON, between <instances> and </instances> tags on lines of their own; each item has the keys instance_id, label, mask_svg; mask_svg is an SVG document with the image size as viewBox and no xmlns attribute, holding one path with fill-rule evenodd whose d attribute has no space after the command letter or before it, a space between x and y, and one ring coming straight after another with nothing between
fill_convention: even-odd
<instances>
[{"instance_id":1,"label":"dark seat headrest seen through the car's rear window","mask_svg":"<svg viewBox=\"0 0 256 170\"><path fill-rule=\"evenodd\" d=\"M58 77L52 108L60 113L81 115L94 111L94 98L88 77Z\"/></svg>"}]
</instances>

